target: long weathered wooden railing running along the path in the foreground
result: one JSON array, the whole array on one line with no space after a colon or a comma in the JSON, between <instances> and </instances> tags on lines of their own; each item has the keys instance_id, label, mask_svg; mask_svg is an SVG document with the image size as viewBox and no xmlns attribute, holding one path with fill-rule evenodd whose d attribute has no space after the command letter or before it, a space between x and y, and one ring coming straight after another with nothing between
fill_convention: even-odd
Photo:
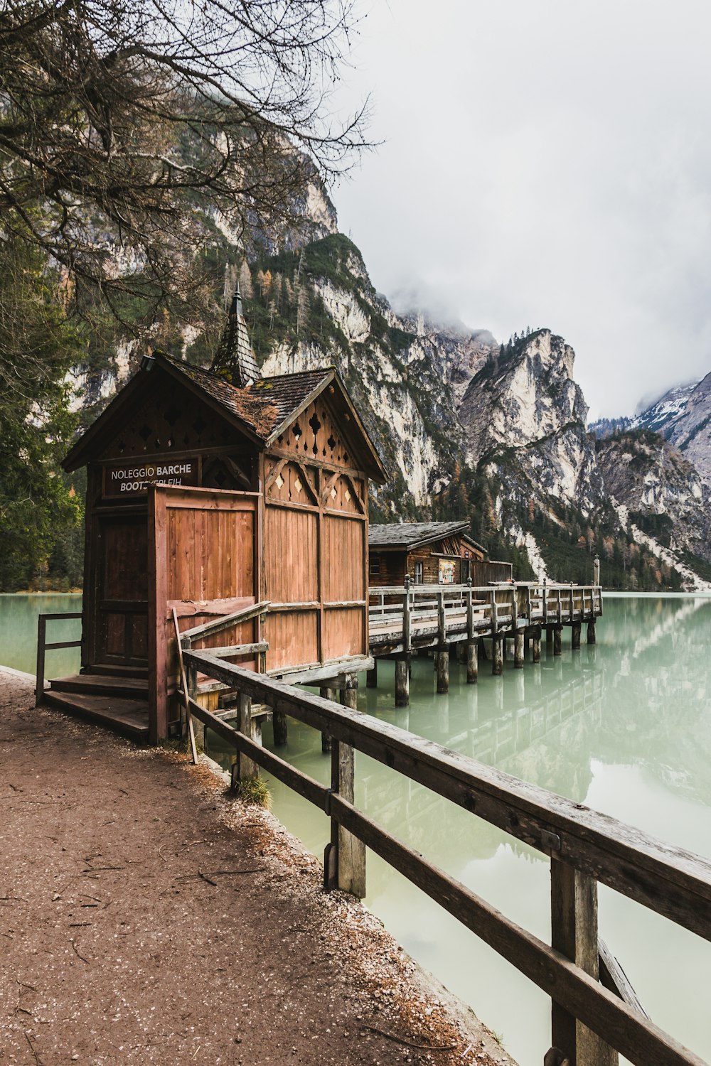
<instances>
[{"instance_id":1,"label":"long weathered wooden railing running along the path in the foreground","mask_svg":"<svg viewBox=\"0 0 711 1066\"><path fill-rule=\"evenodd\" d=\"M609 954L599 963L597 885L608 885L711 940L711 862L394 725L225 663L208 651L185 651L185 661L239 692L241 720L248 720L251 701L256 699L332 738L327 788L190 698L195 717L236 748L235 776L256 763L330 818L326 888L365 894L367 845L550 996L552 1047L546 1066L562 1066L566 1059L569 1066L599 1066L615 1062L615 1052L640 1066L702 1066L697 1055L639 1010L621 983L615 984L615 994L599 980L614 983L615 966ZM550 946L359 811L353 801L354 750L548 855Z\"/></svg>"}]
</instances>

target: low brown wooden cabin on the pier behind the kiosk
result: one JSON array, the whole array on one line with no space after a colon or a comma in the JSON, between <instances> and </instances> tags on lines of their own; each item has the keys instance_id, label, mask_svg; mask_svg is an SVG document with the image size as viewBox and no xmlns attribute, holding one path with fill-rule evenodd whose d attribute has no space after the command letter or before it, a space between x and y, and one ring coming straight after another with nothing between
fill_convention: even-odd
<instances>
[{"instance_id":1,"label":"low brown wooden cabin on the pier behind the kiosk","mask_svg":"<svg viewBox=\"0 0 711 1066\"><path fill-rule=\"evenodd\" d=\"M468 533L469 522L389 522L371 526L368 582L372 587L402 585L485 585L508 581L511 563L486 559Z\"/></svg>"}]
</instances>

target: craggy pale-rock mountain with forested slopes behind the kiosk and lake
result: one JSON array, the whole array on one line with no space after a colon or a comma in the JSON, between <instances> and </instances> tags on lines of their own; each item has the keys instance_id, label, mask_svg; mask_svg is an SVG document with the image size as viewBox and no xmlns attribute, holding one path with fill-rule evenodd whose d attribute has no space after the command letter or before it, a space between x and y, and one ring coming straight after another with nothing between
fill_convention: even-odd
<instances>
[{"instance_id":1,"label":"craggy pale-rock mountain with forested slopes behind the kiosk and lake","mask_svg":"<svg viewBox=\"0 0 711 1066\"><path fill-rule=\"evenodd\" d=\"M282 240L256 230L246 256L220 220L206 217L205 255L231 264L221 289L231 292L239 276L265 374L338 368L390 472L373 494L373 519L468 518L474 537L492 558L513 560L519 578L588 582L598 553L609 586L698 583L697 562L706 565L696 560L704 539L698 472L652 449L644 475L617 479L615 464L636 471L641 455L624 458L632 443L598 450L573 376L575 353L563 338L538 329L499 344L485 328L437 322L423 310L398 313L338 231L318 176L294 210L301 225ZM161 329L161 346L205 366L222 321L166 322ZM75 378L85 421L142 353L143 345L117 334L95 345ZM676 409L686 450L708 439L708 390L693 408L692 398ZM683 422L691 409L695 421ZM663 487L652 502L645 497L648 475ZM652 517L665 507L674 535Z\"/></svg>"}]
</instances>

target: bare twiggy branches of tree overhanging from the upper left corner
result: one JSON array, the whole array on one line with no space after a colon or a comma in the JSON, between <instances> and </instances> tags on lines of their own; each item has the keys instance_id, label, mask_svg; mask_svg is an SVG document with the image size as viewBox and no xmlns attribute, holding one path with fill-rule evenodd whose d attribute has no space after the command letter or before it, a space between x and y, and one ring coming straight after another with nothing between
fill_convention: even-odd
<instances>
[{"instance_id":1,"label":"bare twiggy branches of tree overhanging from the upper left corner","mask_svg":"<svg viewBox=\"0 0 711 1066\"><path fill-rule=\"evenodd\" d=\"M2 0L4 235L61 264L76 311L194 314L206 214L277 226L365 145L362 111L329 113L355 21L351 0Z\"/></svg>"}]
</instances>

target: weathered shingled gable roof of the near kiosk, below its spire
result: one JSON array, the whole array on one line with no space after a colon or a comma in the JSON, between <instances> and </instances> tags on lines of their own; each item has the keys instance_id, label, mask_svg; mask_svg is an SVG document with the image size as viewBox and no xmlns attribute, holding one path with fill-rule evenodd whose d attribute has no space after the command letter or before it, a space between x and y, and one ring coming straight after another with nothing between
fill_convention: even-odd
<instances>
[{"instance_id":1,"label":"weathered shingled gable roof of the near kiosk, below its spire","mask_svg":"<svg viewBox=\"0 0 711 1066\"><path fill-rule=\"evenodd\" d=\"M203 397L213 409L226 417L261 448L269 447L276 440L309 403L329 387L329 393L333 393L330 400L337 413L344 416L349 424L348 436L356 438L355 453L359 455L361 469L374 481L382 483L387 480L381 457L335 367L260 377L246 388L238 388L220 374L195 367L163 352L156 352L155 364L156 370L161 368L172 377L182 381L191 391ZM76 470L94 457L96 442L100 442L104 435L111 433L114 422L124 416L134 393L140 392L152 379L155 378L145 371L139 371L133 375L128 385L114 397L69 451L62 464L65 470Z\"/></svg>"}]
</instances>

